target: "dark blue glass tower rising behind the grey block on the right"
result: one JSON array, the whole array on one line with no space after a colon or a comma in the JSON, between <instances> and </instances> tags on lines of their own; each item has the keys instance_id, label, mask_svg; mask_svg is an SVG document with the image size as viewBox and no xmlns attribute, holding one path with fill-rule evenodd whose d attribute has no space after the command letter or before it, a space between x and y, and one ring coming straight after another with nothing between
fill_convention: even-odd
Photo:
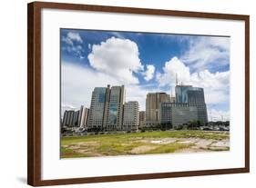
<instances>
[{"instance_id":1,"label":"dark blue glass tower rising behind the grey block on the right","mask_svg":"<svg viewBox=\"0 0 256 188\"><path fill-rule=\"evenodd\" d=\"M187 103L189 106L197 107L198 120L201 124L208 122L203 88L192 87L191 85L176 85L175 95L176 103Z\"/></svg>"}]
</instances>

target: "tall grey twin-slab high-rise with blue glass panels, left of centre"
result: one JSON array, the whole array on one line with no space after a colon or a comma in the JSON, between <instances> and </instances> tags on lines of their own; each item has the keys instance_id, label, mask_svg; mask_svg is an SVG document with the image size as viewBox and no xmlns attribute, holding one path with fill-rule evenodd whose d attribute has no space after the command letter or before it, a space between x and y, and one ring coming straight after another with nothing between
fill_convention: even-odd
<instances>
[{"instance_id":1,"label":"tall grey twin-slab high-rise with blue glass panels, left of centre","mask_svg":"<svg viewBox=\"0 0 256 188\"><path fill-rule=\"evenodd\" d=\"M88 114L88 129L122 130L125 88L122 86L96 87L92 93Z\"/></svg>"}]
</instances>

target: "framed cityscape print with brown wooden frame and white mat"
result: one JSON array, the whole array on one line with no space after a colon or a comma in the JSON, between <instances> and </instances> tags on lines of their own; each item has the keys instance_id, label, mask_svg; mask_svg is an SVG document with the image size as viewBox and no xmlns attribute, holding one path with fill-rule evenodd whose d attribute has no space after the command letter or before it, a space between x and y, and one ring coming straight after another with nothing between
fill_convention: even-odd
<instances>
[{"instance_id":1,"label":"framed cityscape print with brown wooden frame and white mat","mask_svg":"<svg viewBox=\"0 0 256 188\"><path fill-rule=\"evenodd\" d=\"M250 171L249 15L27 12L30 185Z\"/></svg>"}]
</instances>

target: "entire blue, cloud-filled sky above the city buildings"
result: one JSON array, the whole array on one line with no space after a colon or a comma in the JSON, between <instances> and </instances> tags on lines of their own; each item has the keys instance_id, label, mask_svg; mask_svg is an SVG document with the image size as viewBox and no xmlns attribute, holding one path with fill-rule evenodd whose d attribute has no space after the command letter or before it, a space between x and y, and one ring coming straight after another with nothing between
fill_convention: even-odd
<instances>
[{"instance_id":1,"label":"entire blue, cloud-filled sky above the city buildings","mask_svg":"<svg viewBox=\"0 0 256 188\"><path fill-rule=\"evenodd\" d=\"M61 29L60 57L62 114L108 84L145 110L148 93L175 95L177 74L204 88L210 121L230 118L230 37Z\"/></svg>"}]
</instances>

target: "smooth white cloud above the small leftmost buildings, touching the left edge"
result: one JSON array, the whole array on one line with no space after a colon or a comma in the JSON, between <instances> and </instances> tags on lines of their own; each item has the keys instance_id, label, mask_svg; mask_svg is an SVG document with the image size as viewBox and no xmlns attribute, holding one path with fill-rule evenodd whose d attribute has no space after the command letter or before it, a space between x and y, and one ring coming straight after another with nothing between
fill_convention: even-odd
<instances>
[{"instance_id":1,"label":"smooth white cloud above the small leftmost buildings, touching the left edge","mask_svg":"<svg viewBox=\"0 0 256 188\"><path fill-rule=\"evenodd\" d=\"M78 107L90 105L91 93L94 87L118 84L115 79L97 73L83 66L70 63L61 64L61 101L62 105Z\"/></svg>"}]
</instances>

